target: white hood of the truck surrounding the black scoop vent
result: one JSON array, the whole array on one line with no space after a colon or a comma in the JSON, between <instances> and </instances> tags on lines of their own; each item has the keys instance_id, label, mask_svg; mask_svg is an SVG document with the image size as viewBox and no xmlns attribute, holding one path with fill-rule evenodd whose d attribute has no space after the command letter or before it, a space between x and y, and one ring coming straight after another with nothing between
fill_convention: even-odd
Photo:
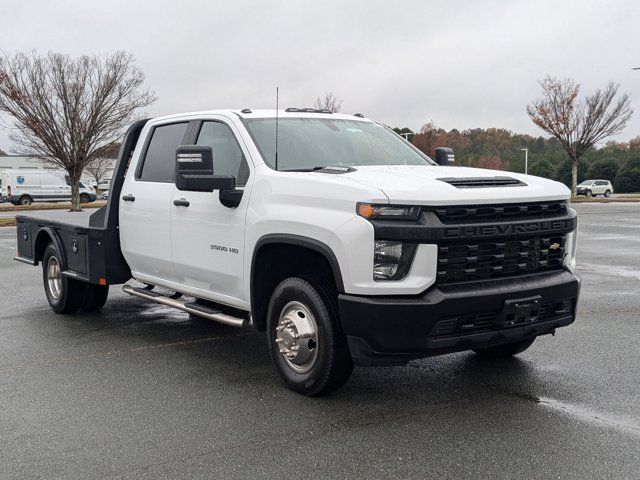
<instances>
[{"instance_id":1,"label":"white hood of the truck surrounding the black scoop vent","mask_svg":"<svg viewBox=\"0 0 640 480\"><path fill-rule=\"evenodd\" d=\"M390 203L407 205L536 202L568 199L571 193L562 183L546 178L482 168L383 165L356 167L355 171L339 176L379 188ZM509 177L524 185L460 188L438 180L487 177Z\"/></svg>"}]
</instances>

